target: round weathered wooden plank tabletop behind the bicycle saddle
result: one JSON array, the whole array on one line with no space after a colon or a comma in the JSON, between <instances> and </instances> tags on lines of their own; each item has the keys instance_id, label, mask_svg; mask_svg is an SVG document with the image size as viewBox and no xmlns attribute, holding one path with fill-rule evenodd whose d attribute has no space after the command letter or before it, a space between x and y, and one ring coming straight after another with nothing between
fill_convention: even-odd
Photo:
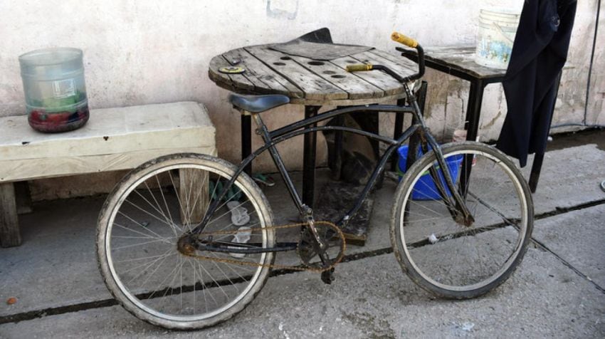
<instances>
[{"instance_id":1,"label":"round weathered wooden plank tabletop behind the bicycle saddle","mask_svg":"<svg viewBox=\"0 0 605 339\"><path fill-rule=\"evenodd\" d=\"M317 61L274 51L269 45L249 46L212 58L209 77L237 93L283 94L302 105L358 105L404 96L403 86L382 71L348 73L347 65L384 65L402 76L414 74L416 63L372 49L331 61ZM328 45L329 46L329 45ZM240 66L242 74L225 74L219 68Z\"/></svg>"}]
</instances>

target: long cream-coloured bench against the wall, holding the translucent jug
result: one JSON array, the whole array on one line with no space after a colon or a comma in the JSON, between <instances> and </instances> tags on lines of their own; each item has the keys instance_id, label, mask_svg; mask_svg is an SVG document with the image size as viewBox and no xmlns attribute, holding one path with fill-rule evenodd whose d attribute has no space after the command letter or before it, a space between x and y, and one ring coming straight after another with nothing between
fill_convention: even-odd
<instances>
[{"instance_id":1,"label":"long cream-coloured bench against the wall, holding the translucent jug","mask_svg":"<svg viewBox=\"0 0 605 339\"><path fill-rule=\"evenodd\" d=\"M128 170L161 155L216 155L214 125L194 102L90 110L72 132L44 134L26 116L0 118L0 246L19 246L14 182Z\"/></svg>"}]
</instances>

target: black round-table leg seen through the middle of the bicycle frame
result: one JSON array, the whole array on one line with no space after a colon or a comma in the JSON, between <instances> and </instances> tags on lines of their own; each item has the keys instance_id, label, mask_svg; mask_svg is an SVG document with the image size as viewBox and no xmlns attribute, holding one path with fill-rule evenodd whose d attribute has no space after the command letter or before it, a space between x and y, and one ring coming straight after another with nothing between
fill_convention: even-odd
<instances>
[{"instance_id":1,"label":"black round-table leg seen through the middle of the bicycle frame","mask_svg":"<svg viewBox=\"0 0 605 339\"><path fill-rule=\"evenodd\" d=\"M317 115L321 106L305 106L305 119ZM314 124L311 127L315 127ZM315 187L315 151L317 135L315 132L305 133L304 154L302 158L302 203L313 208L313 193Z\"/></svg>"}]
</instances>

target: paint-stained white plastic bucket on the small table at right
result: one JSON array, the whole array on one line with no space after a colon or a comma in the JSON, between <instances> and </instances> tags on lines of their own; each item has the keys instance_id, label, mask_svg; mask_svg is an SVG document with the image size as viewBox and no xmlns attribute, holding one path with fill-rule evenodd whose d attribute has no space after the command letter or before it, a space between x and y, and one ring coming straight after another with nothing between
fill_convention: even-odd
<instances>
[{"instance_id":1,"label":"paint-stained white plastic bucket on the small table at right","mask_svg":"<svg viewBox=\"0 0 605 339\"><path fill-rule=\"evenodd\" d=\"M520 14L507 9L482 9L479 14L475 62L491 68L506 69Z\"/></svg>"}]
</instances>

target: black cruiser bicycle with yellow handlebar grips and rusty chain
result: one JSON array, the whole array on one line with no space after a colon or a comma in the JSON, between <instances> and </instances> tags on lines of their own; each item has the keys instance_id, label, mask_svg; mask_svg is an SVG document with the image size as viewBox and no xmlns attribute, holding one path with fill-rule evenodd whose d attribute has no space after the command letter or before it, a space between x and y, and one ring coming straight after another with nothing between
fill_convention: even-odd
<instances>
[{"instance_id":1,"label":"black cruiser bicycle with yellow handlebar grips and rusty chain","mask_svg":"<svg viewBox=\"0 0 605 339\"><path fill-rule=\"evenodd\" d=\"M315 271L331 283L346 247L340 228L354 217L386 162L406 140L406 172L394 194L390 225L391 246L402 270L426 291L444 298L473 298L507 280L531 238L534 210L527 183L493 147L479 142L438 145L410 85L424 73L423 49L399 33L392 38L416 48L418 73L403 78L369 64L349 66L347 71L388 73L403 85L405 105L337 108L269 131L261 113L285 105L288 97L231 94L233 106L252 115L263 147L238 166L209 155L175 154L127 174L107 197L98 221L98 264L115 299L154 325L192 329L242 311L261 291L272 268ZM413 120L396 139L315 125L359 111L407 113ZM325 130L353 132L389 145L354 207L335 224L314 219L276 148L291 137ZM265 150L300 213L300 224L275 225L265 195L243 172ZM233 208L241 208L240 217L230 216ZM294 233L298 239L278 242L278 232ZM275 264L275 254L285 251L297 251L302 264Z\"/></svg>"}]
</instances>

